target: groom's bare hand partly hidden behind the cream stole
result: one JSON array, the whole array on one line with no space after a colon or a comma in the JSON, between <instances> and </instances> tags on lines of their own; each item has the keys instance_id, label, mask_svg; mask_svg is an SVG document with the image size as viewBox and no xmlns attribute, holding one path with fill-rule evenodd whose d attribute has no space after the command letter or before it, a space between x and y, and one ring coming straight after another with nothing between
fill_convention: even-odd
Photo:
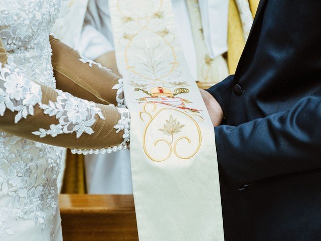
<instances>
[{"instance_id":1,"label":"groom's bare hand partly hidden behind the cream stole","mask_svg":"<svg viewBox=\"0 0 321 241\"><path fill-rule=\"evenodd\" d=\"M223 110L220 104L209 92L205 91L204 89L200 89L200 92L205 102L207 111L210 114L213 126L219 126L223 119Z\"/></svg>"}]
</instances>

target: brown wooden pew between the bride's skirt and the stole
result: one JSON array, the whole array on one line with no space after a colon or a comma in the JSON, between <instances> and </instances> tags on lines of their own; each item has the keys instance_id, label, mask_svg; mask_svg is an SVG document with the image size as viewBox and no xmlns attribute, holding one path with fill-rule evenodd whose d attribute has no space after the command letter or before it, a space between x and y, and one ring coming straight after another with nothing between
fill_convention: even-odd
<instances>
[{"instance_id":1,"label":"brown wooden pew between the bride's skirt and the stole","mask_svg":"<svg viewBox=\"0 0 321 241\"><path fill-rule=\"evenodd\" d=\"M61 194L64 241L138 240L132 195Z\"/></svg>"}]
</instances>

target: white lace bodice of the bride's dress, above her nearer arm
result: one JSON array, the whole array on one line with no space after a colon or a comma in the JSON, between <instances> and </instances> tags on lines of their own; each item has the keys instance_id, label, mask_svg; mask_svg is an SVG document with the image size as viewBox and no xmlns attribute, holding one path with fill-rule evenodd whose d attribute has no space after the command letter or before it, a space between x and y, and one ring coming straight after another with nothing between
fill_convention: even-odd
<instances>
[{"instance_id":1,"label":"white lace bodice of the bride's dress, above her nearer arm","mask_svg":"<svg viewBox=\"0 0 321 241\"><path fill-rule=\"evenodd\" d=\"M59 0L0 0L0 38L35 82L56 87L49 32L59 14Z\"/></svg>"}]
</instances>

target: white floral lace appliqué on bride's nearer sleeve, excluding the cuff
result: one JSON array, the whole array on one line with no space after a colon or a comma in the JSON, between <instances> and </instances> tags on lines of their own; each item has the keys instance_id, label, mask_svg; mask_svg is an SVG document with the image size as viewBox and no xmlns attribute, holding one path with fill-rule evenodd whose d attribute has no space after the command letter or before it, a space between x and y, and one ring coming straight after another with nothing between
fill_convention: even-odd
<instances>
[{"instance_id":1,"label":"white floral lace appliqu\u00e9 on bride's nearer sleeve, excluding the cuff","mask_svg":"<svg viewBox=\"0 0 321 241\"><path fill-rule=\"evenodd\" d=\"M5 114L8 108L17 111L15 123L28 115L34 115L34 106L44 110L45 114L55 116L59 124L50 125L48 130L39 129L33 132L41 138L50 135L56 137L60 134L76 133L79 138L83 133L93 134L92 126L96 122L95 116L105 119L101 109L94 102L89 102L56 90L58 96L55 102L43 104L41 85L30 80L9 57L8 64L0 69L0 115Z\"/></svg>"}]
</instances>

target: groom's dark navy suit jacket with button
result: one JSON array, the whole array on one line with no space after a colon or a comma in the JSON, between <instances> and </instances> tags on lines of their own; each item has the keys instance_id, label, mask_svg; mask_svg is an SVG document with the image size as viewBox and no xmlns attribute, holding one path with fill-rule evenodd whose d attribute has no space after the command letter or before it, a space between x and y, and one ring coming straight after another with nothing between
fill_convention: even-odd
<instances>
[{"instance_id":1,"label":"groom's dark navy suit jacket with button","mask_svg":"<svg viewBox=\"0 0 321 241\"><path fill-rule=\"evenodd\" d=\"M226 241L321 240L321 1L261 0L236 73L208 91Z\"/></svg>"}]
</instances>

